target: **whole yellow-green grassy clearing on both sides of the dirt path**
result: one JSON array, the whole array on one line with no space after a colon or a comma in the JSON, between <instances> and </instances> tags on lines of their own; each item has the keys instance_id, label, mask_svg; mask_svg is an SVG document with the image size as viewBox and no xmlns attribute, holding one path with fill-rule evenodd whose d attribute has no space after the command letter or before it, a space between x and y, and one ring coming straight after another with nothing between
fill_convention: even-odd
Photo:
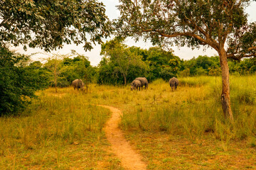
<instances>
[{"instance_id":1,"label":"whole yellow-green grassy clearing on both sides of the dirt path","mask_svg":"<svg viewBox=\"0 0 256 170\"><path fill-rule=\"evenodd\" d=\"M19 116L0 118L0 169L124 169L103 130L119 127L147 169L256 169L256 76L230 77L235 122L225 121L220 77L161 79L149 89L91 84L38 91Z\"/></svg>"}]
</instances>

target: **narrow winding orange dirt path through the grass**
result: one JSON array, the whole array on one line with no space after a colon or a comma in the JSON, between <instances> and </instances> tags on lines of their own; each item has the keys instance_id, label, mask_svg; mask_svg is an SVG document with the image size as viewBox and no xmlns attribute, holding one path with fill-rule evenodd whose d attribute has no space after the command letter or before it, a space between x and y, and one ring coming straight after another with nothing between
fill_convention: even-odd
<instances>
[{"instance_id":1,"label":"narrow winding orange dirt path through the grass","mask_svg":"<svg viewBox=\"0 0 256 170\"><path fill-rule=\"evenodd\" d=\"M124 139L122 130L118 128L118 123L121 120L120 115L122 115L122 112L111 106L98 106L108 108L112 112L112 117L106 123L105 132L107 140L109 140L110 144L112 145L112 151L114 154L117 154L117 157L120 159L124 169L146 169L146 164L142 162L142 157L132 148L131 145L129 145L129 142Z\"/></svg>"}]
</instances>

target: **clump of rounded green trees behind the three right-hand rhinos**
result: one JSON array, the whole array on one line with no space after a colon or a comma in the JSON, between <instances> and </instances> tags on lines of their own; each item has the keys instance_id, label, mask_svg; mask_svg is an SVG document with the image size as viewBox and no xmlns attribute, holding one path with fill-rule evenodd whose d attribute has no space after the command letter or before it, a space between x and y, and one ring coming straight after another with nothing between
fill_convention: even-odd
<instances>
[{"instance_id":1,"label":"clump of rounded green trees behind the three right-hand rhinos","mask_svg":"<svg viewBox=\"0 0 256 170\"><path fill-rule=\"evenodd\" d=\"M127 47L122 38L115 38L102 45L101 55L105 55L99 65L99 84L125 84L136 77L169 80L177 75L181 60L174 56L172 50L151 47L149 50L139 47Z\"/></svg>"}]
</instances>

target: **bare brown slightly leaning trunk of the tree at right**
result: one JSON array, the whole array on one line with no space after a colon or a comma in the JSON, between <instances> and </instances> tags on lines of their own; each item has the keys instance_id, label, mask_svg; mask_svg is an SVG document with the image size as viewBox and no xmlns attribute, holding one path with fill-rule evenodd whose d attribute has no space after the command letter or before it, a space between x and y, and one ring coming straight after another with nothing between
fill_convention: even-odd
<instances>
[{"instance_id":1,"label":"bare brown slightly leaning trunk of the tree at right","mask_svg":"<svg viewBox=\"0 0 256 170\"><path fill-rule=\"evenodd\" d=\"M221 105L223 108L223 113L225 118L233 121L233 114L230 104L230 83L229 83L229 68L228 68L228 59L225 52L225 49L221 49L218 52L220 55L220 67L222 71L222 82L223 82L223 91L221 94Z\"/></svg>"}]
</instances>

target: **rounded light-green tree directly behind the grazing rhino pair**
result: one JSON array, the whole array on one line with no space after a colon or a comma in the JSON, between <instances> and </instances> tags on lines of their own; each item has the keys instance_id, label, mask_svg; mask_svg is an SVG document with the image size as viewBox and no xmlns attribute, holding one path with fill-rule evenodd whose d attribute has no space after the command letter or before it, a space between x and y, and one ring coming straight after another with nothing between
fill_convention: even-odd
<instances>
[{"instance_id":1,"label":"rounded light-green tree directly behind the grazing rhino pair","mask_svg":"<svg viewBox=\"0 0 256 170\"><path fill-rule=\"evenodd\" d=\"M126 85L127 81L134 79L136 75L146 74L146 64L142 61L142 55L139 55L133 47L124 45L122 41L122 39L114 38L102 45L101 55L105 55L100 63L99 72L99 81L102 83L110 83L112 81L110 77L122 77ZM110 72L108 76L106 71Z\"/></svg>"}]
</instances>

